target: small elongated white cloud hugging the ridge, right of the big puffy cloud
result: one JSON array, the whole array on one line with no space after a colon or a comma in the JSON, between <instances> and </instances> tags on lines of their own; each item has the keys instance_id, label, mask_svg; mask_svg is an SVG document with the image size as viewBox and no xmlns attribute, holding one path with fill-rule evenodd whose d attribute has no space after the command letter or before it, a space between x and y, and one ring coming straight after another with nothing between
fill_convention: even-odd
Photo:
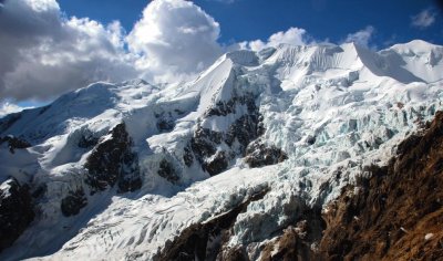
<instances>
[{"instance_id":1,"label":"small elongated white cloud hugging the ridge, right of the big puffy cloud","mask_svg":"<svg viewBox=\"0 0 443 261\"><path fill-rule=\"evenodd\" d=\"M244 49L250 49L253 51L259 51L265 48L277 46L281 43L289 43L293 45L308 44L308 35L306 30L302 28L290 28L286 32L280 31L274 33L269 39L264 42L261 40L255 40L249 42L241 42L239 45Z\"/></svg>"}]
</instances>

